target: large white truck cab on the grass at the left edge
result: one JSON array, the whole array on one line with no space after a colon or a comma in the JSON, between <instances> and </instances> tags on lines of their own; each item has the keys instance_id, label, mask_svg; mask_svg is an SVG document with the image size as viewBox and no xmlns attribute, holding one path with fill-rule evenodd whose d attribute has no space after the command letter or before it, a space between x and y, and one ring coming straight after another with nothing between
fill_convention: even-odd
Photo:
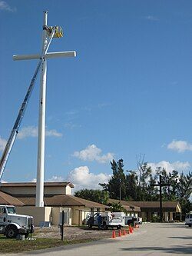
<instances>
[{"instance_id":1,"label":"large white truck cab on the grass at the left edge","mask_svg":"<svg viewBox=\"0 0 192 256\"><path fill-rule=\"evenodd\" d=\"M16 238L18 234L33 232L33 217L28 215L16 214L15 206L0 204L0 234L7 238Z\"/></svg>"}]
</instances>

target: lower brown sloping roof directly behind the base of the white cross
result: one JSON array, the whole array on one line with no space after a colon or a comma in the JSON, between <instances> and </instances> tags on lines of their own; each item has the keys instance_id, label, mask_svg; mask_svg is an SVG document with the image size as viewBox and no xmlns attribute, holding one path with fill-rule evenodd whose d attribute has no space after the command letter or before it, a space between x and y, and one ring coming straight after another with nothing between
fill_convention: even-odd
<instances>
[{"instance_id":1,"label":"lower brown sloping roof directly behind the base of the white cross","mask_svg":"<svg viewBox=\"0 0 192 256\"><path fill-rule=\"evenodd\" d=\"M30 198L20 198L25 205L35 205L35 197ZM59 194L44 198L45 206L60 206L60 207L70 207L70 206L84 206L88 208L108 208L107 205L99 204L94 201L85 200L82 198L77 198L71 194Z\"/></svg>"}]
</instances>

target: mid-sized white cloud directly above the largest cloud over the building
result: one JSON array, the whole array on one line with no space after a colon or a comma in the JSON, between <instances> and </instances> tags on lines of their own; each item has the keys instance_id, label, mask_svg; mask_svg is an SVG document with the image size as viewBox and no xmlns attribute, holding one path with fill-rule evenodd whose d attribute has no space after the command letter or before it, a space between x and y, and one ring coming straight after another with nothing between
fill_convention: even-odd
<instances>
[{"instance_id":1,"label":"mid-sized white cloud directly above the largest cloud over the building","mask_svg":"<svg viewBox=\"0 0 192 256\"><path fill-rule=\"evenodd\" d=\"M114 158L113 153L107 153L106 155L101 155L101 149L97 148L96 145L88 145L87 148L81 151L75 151L73 156L79 158L83 161L98 161L99 163L107 163Z\"/></svg>"}]
</instances>

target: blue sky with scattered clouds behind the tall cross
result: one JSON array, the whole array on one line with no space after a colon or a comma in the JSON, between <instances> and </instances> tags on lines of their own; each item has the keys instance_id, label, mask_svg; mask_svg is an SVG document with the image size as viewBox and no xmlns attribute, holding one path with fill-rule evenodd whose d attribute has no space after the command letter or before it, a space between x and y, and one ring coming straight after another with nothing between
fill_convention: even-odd
<instances>
[{"instance_id":1,"label":"blue sky with scattered clouds behind the tall cross","mask_svg":"<svg viewBox=\"0 0 192 256\"><path fill-rule=\"evenodd\" d=\"M112 158L167 171L192 165L192 2L0 1L0 150L8 139L41 52L43 11L61 25L48 60L45 180L98 188ZM3 176L36 178L39 78Z\"/></svg>"}]
</instances>

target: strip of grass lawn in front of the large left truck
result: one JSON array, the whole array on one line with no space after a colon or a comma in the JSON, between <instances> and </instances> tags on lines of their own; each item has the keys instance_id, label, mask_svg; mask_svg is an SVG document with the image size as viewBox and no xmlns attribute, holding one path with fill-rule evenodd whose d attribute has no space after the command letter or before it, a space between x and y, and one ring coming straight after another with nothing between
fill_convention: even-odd
<instances>
[{"instance_id":1,"label":"strip of grass lawn in front of the large left truck","mask_svg":"<svg viewBox=\"0 0 192 256\"><path fill-rule=\"evenodd\" d=\"M61 241L55 238L36 238L36 240L18 241L16 239L8 239L0 234L0 254L34 251L45 248L58 247L66 244L77 244L87 241L88 240Z\"/></svg>"}]
</instances>

